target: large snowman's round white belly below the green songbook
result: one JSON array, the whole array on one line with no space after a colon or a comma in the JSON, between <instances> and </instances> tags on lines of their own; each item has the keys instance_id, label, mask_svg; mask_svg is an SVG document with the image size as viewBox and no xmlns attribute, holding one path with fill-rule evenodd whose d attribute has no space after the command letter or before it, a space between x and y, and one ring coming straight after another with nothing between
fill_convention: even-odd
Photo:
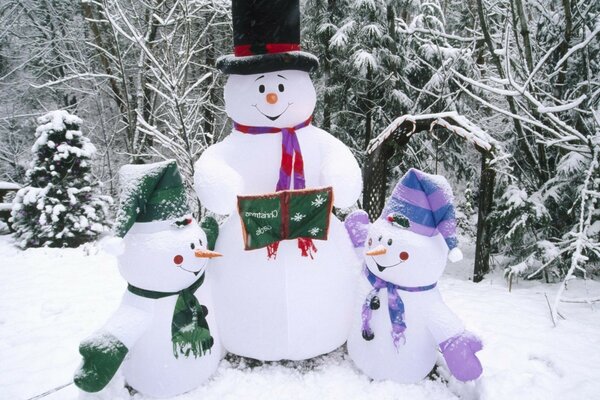
<instances>
[{"instance_id":1,"label":"large snowman's round white belly below the green songbook","mask_svg":"<svg viewBox=\"0 0 600 400\"><path fill-rule=\"evenodd\" d=\"M332 216L327 241L314 241L314 259L296 240L245 251L237 216L222 226L213 279L224 347L261 360L306 359L341 346L351 324L359 262L342 223Z\"/></svg>"}]
</instances>

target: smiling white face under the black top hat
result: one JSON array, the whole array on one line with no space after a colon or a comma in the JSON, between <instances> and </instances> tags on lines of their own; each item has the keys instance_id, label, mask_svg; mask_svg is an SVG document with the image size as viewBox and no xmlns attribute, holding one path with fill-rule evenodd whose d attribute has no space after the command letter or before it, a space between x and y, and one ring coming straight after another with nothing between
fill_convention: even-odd
<instances>
[{"instance_id":1,"label":"smiling white face under the black top hat","mask_svg":"<svg viewBox=\"0 0 600 400\"><path fill-rule=\"evenodd\" d=\"M303 71L230 75L225 84L227 115L242 125L292 127L312 115L316 102L310 76Z\"/></svg>"}]
</instances>

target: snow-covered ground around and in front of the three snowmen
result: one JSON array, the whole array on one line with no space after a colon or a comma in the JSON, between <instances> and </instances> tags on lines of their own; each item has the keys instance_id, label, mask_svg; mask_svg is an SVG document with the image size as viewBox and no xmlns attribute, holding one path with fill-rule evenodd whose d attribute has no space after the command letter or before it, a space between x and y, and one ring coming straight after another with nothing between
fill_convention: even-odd
<instances>
[{"instance_id":1,"label":"snow-covered ground around and in front of the three snowmen","mask_svg":"<svg viewBox=\"0 0 600 400\"><path fill-rule=\"evenodd\" d=\"M446 269L440 290L484 341L477 382L447 381L444 366L441 377L415 385L371 382L340 349L302 363L250 366L229 357L206 385L177 399L600 398L598 306L564 303L566 320L553 327L544 294L552 299L554 285L521 281L509 293L497 274L473 284L466 250L465 261ZM29 399L68 384L79 341L103 324L124 289L115 259L94 247L23 252L0 236L0 399ZM598 294L598 282L572 282L566 293ZM44 398L76 399L77 391L70 385Z\"/></svg>"}]
</instances>

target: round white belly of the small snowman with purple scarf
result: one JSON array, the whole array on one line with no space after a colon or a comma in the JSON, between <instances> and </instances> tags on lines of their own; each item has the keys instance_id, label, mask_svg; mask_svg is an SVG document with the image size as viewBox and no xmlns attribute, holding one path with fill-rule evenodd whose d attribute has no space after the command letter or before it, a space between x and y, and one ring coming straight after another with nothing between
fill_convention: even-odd
<instances>
[{"instance_id":1,"label":"round white belly of the small snowman with purple scarf","mask_svg":"<svg viewBox=\"0 0 600 400\"><path fill-rule=\"evenodd\" d=\"M373 311L370 321L375 336L370 341L362 337L362 301L368 290L362 292L360 306L353 310L354 321L348 337L348 354L352 361L377 380L414 383L425 378L435 364L437 348L423 318L419 293L400 292L406 310L406 342L401 340L396 349L390 334L392 325L385 289L379 292L381 306Z\"/></svg>"}]
</instances>

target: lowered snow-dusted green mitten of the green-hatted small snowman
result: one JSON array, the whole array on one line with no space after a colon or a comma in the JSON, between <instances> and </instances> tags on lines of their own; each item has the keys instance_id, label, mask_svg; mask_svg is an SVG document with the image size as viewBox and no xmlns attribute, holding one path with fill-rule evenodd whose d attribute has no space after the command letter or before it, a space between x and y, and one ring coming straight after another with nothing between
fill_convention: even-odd
<instances>
[{"instance_id":1,"label":"lowered snow-dusted green mitten of the green-hatted small snowman","mask_svg":"<svg viewBox=\"0 0 600 400\"><path fill-rule=\"evenodd\" d=\"M110 333L102 333L84 340L79 345L83 363L75 372L75 385L86 392L99 392L125 359L129 349Z\"/></svg>"}]
</instances>

